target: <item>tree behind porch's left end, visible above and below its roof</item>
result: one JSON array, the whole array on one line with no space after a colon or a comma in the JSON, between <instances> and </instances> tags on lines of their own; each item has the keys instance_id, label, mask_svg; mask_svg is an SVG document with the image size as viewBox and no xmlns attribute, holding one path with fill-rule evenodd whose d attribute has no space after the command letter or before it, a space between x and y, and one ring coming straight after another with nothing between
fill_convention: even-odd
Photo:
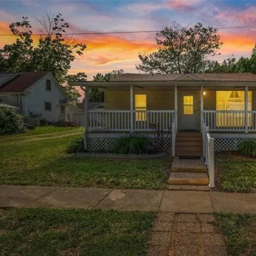
<instances>
[{"instance_id":1,"label":"tree behind porch's left end, visible above and below its roof","mask_svg":"<svg viewBox=\"0 0 256 256\"><path fill-rule=\"evenodd\" d=\"M123 69L113 70L112 72L109 72L106 74L97 73L93 77L93 81L98 81L98 82L110 81L111 79L121 76L124 73L125 72L123 71ZM104 92L99 91L97 88L90 88L89 101L90 102L104 102Z\"/></svg>"}]
</instances>

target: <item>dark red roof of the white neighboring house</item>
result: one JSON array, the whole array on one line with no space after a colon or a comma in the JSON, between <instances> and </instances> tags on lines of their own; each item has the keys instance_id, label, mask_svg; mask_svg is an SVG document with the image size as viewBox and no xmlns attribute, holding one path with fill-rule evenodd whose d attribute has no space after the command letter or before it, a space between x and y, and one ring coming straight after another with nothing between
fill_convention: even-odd
<instances>
[{"instance_id":1,"label":"dark red roof of the white neighboring house","mask_svg":"<svg viewBox=\"0 0 256 256\"><path fill-rule=\"evenodd\" d=\"M49 72L0 73L0 93L20 93L32 86ZM9 79L5 81L6 79ZM1 81L0 81L1 82Z\"/></svg>"}]
</instances>

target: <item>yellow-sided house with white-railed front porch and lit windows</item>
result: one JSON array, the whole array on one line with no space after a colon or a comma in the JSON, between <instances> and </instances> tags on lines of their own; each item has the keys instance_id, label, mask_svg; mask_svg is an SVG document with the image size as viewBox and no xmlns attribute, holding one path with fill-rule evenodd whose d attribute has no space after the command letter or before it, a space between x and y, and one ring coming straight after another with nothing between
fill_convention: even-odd
<instances>
[{"instance_id":1,"label":"yellow-sided house with white-railed front porch and lit windows","mask_svg":"<svg viewBox=\"0 0 256 256\"><path fill-rule=\"evenodd\" d=\"M172 141L173 155L203 154L201 142L175 141L182 131L193 131L194 137L207 127L215 151L236 150L237 143L256 135L256 76L251 73L126 73L108 82L70 84L86 92L88 87L105 91L105 109L85 111L87 150L108 150L130 131L152 137L151 124L166 134L172 130L166 150Z\"/></svg>"}]
</instances>

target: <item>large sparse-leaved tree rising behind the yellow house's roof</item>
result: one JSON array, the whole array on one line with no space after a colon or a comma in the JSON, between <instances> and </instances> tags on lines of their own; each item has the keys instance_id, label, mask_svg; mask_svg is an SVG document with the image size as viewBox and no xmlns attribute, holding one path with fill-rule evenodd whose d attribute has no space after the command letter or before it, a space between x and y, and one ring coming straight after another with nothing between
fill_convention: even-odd
<instances>
[{"instance_id":1,"label":"large sparse-leaved tree rising behind the yellow house's roof","mask_svg":"<svg viewBox=\"0 0 256 256\"><path fill-rule=\"evenodd\" d=\"M208 58L217 54L222 42L214 27L197 23L182 27L173 23L156 34L156 52L139 54L137 69L146 73L196 73L208 65Z\"/></svg>"}]
</instances>

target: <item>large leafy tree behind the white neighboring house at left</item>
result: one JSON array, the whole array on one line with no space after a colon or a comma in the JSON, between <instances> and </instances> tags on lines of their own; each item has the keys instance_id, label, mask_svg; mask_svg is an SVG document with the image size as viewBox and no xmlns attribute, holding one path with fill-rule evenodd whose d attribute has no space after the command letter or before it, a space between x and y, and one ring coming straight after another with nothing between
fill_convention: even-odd
<instances>
[{"instance_id":1,"label":"large leafy tree behind the white neighboring house at left","mask_svg":"<svg viewBox=\"0 0 256 256\"><path fill-rule=\"evenodd\" d=\"M86 45L64 35L69 24L64 22L60 13L55 17L48 13L42 19L37 19L37 22L41 34L37 45L28 17L23 17L22 22L10 24L10 31L17 39L13 44L6 44L0 49L0 70L49 71L63 84L75 55L82 55ZM73 101L79 94L74 88L69 89L69 96L72 96L70 100Z\"/></svg>"}]
</instances>

